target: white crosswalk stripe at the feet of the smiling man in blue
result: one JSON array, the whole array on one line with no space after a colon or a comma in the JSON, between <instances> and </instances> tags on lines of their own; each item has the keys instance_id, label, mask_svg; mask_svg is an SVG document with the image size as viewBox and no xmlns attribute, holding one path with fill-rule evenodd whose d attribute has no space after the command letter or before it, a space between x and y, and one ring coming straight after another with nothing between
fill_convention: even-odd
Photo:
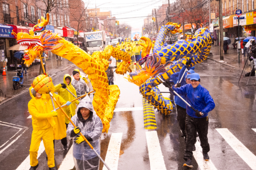
<instances>
[{"instance_id":1,"label":"white crosswalk stripe at the feet of the smiling man in blue","mask_svg":"<svg viewBox=\"0 0 256 170\"><path fill-rule=\"evenodd\" d=\"M182 133L182 131L181 131L181 133ZM196 140L195 148L196 149L195 149L195 151L193 151L193 156L194 156L196 162L198 163L198 166L200 167L200 169L201 170L217 170L215 165L212 163L211 158L209 159L209 161L204 161L202 147L200 146L200 142L198 142L198 140Z\"/></svg>"}]
</instances>

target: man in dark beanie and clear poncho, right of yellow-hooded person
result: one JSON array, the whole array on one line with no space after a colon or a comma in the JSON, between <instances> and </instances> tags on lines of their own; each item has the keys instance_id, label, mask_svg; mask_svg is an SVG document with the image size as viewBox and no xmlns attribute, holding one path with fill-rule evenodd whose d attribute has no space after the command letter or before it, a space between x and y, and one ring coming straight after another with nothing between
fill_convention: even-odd
<instances>
[{"instance_id":1,"label":"man in dark beanie and clear poncho, right of yellow-hooded person","mask_svg":"<svg viewBox=\"0 0 256 170\"><path fill-rule=\"evenodd\" d=\"M76 89L76 95L81 96L84 95L85 92L89 93L89 88L86 84L86 82L80 78L80 74L78 71L73 71L73 77L74 79L71 82L71 85Z\"/></svg>"}]
</instances>

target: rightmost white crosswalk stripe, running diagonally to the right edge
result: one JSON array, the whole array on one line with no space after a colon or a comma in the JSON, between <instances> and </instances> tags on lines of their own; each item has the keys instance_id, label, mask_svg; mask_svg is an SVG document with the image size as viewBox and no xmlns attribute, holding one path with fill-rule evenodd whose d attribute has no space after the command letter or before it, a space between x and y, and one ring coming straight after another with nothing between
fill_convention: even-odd
<instances>
[{"instance_id":1,"label":"rightmost white crosswalk stripe, running diagonally to the right edge","mask_svg":"<svg viewBox=\"0 0 256 170\"><path fill-rule=\"evenodd\" d=\"M218 133L225 139L225 141L236 151L236 153L243 159L250 168L256 170L255 162L256 156L247 147L242 144L227 128L216 129Z\"/></svg>"}]
</instances>

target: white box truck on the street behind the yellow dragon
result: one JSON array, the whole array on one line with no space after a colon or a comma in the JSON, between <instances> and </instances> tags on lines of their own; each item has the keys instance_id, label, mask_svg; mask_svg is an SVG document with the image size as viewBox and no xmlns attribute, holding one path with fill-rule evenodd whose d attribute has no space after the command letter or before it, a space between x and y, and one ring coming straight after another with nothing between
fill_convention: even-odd
<instances>
[{"instance_id":1,"label":"white box truck on the street behind the yellow dragon","mask_svg":"<svg viewBox=\"0 0 256 170\"><path fill-rule=\"evenodd\" d=\"M93 54L94 51L103 51L108 45L105 31L85 32L86 52Z\"/></svg>"}]
</instances>

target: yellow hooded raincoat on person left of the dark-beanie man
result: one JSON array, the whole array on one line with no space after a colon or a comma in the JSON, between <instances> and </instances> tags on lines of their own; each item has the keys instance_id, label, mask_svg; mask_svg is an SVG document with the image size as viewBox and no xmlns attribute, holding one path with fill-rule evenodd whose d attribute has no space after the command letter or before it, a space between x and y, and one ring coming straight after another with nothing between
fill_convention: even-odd
<instances>
[{"instance_id":1,"label":"yellow hooded raincoat on person left of the dark-beanie man","mask_svg":"<svg viewBox=\"0 0 256 170\"><path fill-rule=\"evenodd\" d=\"M64 75L64 78L63 78L63 82L65 85L67 85L67 82L66 82L66 78L67 77L70 77L69 74L65 74ZM55 85L55 92L58 92L58 94L65 100L65 101L71 101L73 99L75 99L75 97L70 94L70 92L68 92L66 89L64 88L61 88L61 84L58 84L58 85ZM73 93L75 96L76 96L76 89L73 87L73 85L71 85L71 82L69 85L67 85L67 89L69 91L71 91L71 93ZM64 108L64 111L67 113L67 115L69 117L74 116L76 114L75 110L76 110L76 104L78 105L79 104L79 101L76 100L75 102L72 102L72 104L70 104L69 106L67 106L67 108ZM67 119L67 117L65 117L65 123L69 123L70 121Z\"/></svg>"}]
</instances>

